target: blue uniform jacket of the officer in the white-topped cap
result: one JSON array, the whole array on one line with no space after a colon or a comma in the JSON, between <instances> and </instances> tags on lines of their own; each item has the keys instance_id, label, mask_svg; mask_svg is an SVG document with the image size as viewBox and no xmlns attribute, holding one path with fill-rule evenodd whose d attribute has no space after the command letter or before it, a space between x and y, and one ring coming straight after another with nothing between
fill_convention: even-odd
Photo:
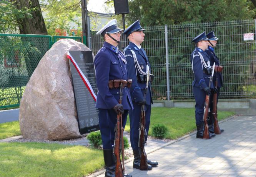
<instances>
[{"instance_id":1,"label":"blue uniform jacket of the officer in the white-topped cap","mask_svg":"<svg viewBox=\"0 0 256 177\"><path fill-rule=\"evenodd\" d=\"M103 47L95 56L95 74L98 88L96 107L111 109L120 97L120 89L108 88L108 81L113 79L128 80L126 60L123 53L115 46L104 42ZM123 109L133 109L129 89L123 89Z\"/></svg>"}]
</instances>

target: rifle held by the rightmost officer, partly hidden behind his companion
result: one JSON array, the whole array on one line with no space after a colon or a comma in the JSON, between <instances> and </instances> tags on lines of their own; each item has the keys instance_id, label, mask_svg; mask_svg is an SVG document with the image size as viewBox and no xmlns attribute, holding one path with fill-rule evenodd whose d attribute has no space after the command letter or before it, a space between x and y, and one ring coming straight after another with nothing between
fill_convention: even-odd
<instances>
[{"instance_id":1,"label":"rifle held by the rightmost officer, partly hidden behind his companion","mask_svg":"<svg viewBox=\"0 0 256 177\"><path fill-rule=\"evenodd\" d=\"M215 68L216 73L218 73L219 71L222 70L222 66L218 66ZM218 77L216 77L216 81L215 81L215 87L218 87ZM218 123L218 113L217 113L217 96L218 93L214 93L213 95L213 117L214 117L214 133L216 135L220 135L221 131L219 128L219 123Z\"/></svg>"}]
</instances>

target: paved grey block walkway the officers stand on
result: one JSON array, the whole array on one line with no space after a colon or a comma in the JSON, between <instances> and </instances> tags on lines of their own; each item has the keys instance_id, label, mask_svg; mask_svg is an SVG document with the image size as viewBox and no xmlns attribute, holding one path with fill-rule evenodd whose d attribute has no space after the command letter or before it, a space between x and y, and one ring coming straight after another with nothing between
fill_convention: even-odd
<instances>
[{"instance_id":1,"label":"paved grey block walkway the officers stand on","mask_svg":"<svg viewBox=\"0 0 256 177\"><path fill-rule=\"evenodd\" d=\"M126 172L133 177L256 177L256 116L234 117L220 127L225 132L210 140L196 139L193 133L176 142L161 141L165 147L158 150L157 144L147 146L148 158L157 159L159 166L140 171L130 160ZM104 177L100 173L91 177Z\"/></svg>"}]
</instances>

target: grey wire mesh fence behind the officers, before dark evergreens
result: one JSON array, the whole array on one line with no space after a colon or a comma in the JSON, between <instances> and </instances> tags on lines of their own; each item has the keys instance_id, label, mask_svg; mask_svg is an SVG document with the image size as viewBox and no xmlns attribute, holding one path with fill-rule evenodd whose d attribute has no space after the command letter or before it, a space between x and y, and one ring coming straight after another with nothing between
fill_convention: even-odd
<instances>
[{"instance_id":1,"label":"grey wire mesh fence behind the officers, before dark evergreens","mask_svg":"<svg viewBox=\"0 0 256 177\"><path fill-rule=\"evenodd\" d=\"M195 45L191 41L203 31L215 31L219 38L216 55L224 66L224 85L220 97L256 96L255 38L243 41L244 33L255 35L255 20L153 26L145 29L145 41L141 45L147 52L151 71L155 75L152 83L154 99L193 98L191 84L194 75L190 55ZM92 51L96 54L103 40L100 36L91 37ZM127 44L125 39L119 48Z\"/></svg>"}]
</instances>

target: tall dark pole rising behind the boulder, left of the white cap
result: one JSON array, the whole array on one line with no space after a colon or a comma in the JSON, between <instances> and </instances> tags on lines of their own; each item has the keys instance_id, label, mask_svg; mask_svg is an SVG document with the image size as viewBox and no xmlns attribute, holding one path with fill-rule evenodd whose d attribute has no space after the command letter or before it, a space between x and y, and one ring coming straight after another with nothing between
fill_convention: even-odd
<instances>
[{"instance_id":1,"label":"tall dark pole rising behind the boulder, left of the white cap","mask_svg":"<svg viewBox=\"0 0 256 177\"><path fill-rule=\"evenodd\" d=\"M87 39L87 2L86 0L81 0L81 7L82 7L82 28L83 28L83 43L85 45L88 45L88 39Z\"/></svg>"}]
</instances>

